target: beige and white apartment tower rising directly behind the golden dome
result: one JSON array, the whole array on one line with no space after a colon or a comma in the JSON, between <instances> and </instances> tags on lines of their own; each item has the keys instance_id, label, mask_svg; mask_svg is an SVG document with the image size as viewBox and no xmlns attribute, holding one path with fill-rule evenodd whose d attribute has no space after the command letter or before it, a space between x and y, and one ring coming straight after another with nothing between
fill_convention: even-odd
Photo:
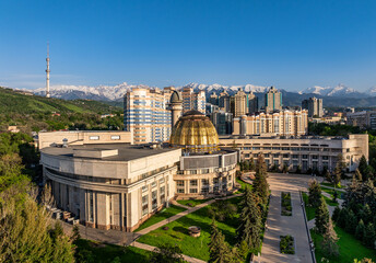
<instances>
[{"instance_id":1,"label":"beige and white apartment tower rising directly behind the golden dome","mask_svg":"<svg viewBox=\"0 0 376 263\"><path fill-rule=\"evenodd\" d=\"M186 87L181 92L183 96L183 111L189 112L190 110L199 111L205 114L205 92L195 92L192 88Z\"/></svg>"}]
</instances>

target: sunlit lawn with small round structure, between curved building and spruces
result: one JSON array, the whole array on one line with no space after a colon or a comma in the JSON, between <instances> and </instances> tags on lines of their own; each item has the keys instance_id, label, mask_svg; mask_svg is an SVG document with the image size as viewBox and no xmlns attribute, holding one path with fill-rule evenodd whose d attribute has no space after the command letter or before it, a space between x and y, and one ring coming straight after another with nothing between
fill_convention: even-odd
<instances>
[{"instance_id":1,"label":"sunlit lawn with small round structure, between curved building and spruces","mask_svg":"<svg viewBox=\"0 0 376 263\"><path fill-rule=\"evenodd\" d=\"M242 197L234 197L226 202L231 202L235 205L239 203ZM209 260L208 244L210 241L210 231L212 218L209 216L208 209L210 206L205 206L195 213L191 213L185 217L177 219L168 225L168 230L158 228L145 236L139 238L139 242L148 243L151 245L158 245L163 243L178 244L184 254L201 259ZM218 221L218 228L225 236L226 241L231 244L235 244L236 228L238 225L237 217L234 219L225 219L224 221ZM192 238L188 235L188 227L198 226L201 228L201 237Z\"/></svg>"}]
</instances>

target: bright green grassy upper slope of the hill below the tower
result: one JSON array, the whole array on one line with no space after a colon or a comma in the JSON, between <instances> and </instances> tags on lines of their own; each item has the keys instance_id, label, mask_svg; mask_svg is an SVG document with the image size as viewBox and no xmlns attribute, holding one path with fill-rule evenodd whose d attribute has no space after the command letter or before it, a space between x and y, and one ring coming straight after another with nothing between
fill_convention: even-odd
<instances>
[{"instance_id":1,"label":"bright green grassy upper slope of the hill below the tower","mask_svg":"<svg viewBox=\"0 0 376 263\"><path fill-rule=\"evenodd\" d=\"M89 100L64 101L38 95L26 95L11 89L0 88L1 113L114 113L121 107Z\"/></svg>"}]
</instances>

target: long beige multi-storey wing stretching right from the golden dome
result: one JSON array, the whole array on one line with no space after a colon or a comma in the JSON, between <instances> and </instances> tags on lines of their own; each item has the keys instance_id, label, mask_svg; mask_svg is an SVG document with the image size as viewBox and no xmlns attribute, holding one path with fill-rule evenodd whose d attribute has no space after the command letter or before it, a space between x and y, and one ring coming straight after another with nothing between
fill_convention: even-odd
<instances>
[{"instance_id":1,"label":"long beige multi-storey wing stretching right from the golden dome","mask_svg":"<svg viewBox=\"0 0 376 263\"><path fill-rule=\"evenodd\" d=\"M258 155L265 156L268 168L282 169L286 165L290 170L299 169L329 171L336 169L339 155L342 155L349 171L355 171L362 156L368 159L368 135L349 135L349 137L248 137L238 136L220 137L220 147L235 147L240 150L242 160L257 159Z\"/></svg>"}]
</instances>

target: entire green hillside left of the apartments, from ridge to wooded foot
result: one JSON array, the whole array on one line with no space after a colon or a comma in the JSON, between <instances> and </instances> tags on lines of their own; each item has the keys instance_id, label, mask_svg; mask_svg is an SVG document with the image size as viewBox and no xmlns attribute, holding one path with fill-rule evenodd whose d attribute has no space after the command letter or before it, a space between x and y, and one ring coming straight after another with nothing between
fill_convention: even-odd
<instances>
[{"instance_id":1,"label":"entire green hillside left of the apartments, from ridge to wooded foot","mask_svg":"<svg viewBox=\"0 0 376 263\"><path fill-rule=\"evenodd\" d=\"M9 125L28 134L42 129L122 129L121 114L121 107L97 101L47 99L0 88L0 132Z\"/></svg>"}]
</instances>

